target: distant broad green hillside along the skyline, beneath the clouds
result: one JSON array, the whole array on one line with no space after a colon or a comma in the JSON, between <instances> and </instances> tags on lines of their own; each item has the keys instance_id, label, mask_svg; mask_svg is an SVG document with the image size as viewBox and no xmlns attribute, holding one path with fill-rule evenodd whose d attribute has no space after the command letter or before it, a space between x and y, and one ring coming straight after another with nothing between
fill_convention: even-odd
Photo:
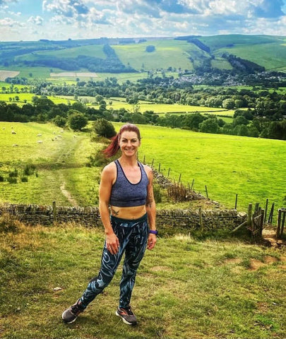
<instances>
[{"instance_id":1,"label":"distant broad green hillside along the skyline, beneath the clouds","mask_svg":"<svg viewBox=\"0 0 286 339\"><path fill-rule=\"evenodd\" d=\"M105 44L114 49L122 65L131 67L135 71L156 71L172 68L182 71L193 71L204 61L210 62L218 69L232 69L222 54L227 52L242 59L247 59L266 70L277 69L286 71L286 37L268 35L216 35L210 37L196 37L198 43L192 42L191 37L156 38L122 41L118 39L105 40L67 40L67 41L39 41L39 42L0 42L0 69L20 71L19 76L29 77L32 73L35 78L49 78L51 69L54 72L66 71L63 68L45 67L39 64L30 66L31 61L47 62L49 59L64 60L64 65L71 66L68 60L75 60L80 56L97 58L106 61ZM154 52L146 52L146 47L153 45ZM205 48L203 48L205 47ZM89 61L90 62L90 61ZM59 63L62 64L62 63ZM64 67L64 66L61 66ZM76 71L86 72L86 67L80 65ZM68 69L68 71L72 71ZM144 73L145 74L145 73ZM129 74L131 77L133 74ZM128 75L127 75L128 76ZM75 77L73 77L75 78Z\"/></svg>"}]
</instances>

